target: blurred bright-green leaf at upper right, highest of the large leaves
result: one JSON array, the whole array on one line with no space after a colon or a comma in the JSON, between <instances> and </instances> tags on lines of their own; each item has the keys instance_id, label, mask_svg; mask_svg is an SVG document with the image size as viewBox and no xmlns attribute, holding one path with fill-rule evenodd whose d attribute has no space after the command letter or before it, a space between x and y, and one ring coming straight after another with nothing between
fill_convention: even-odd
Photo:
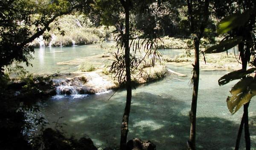
<instances>
[{"instance_id":1,"label":"blurred bright-green leaf at upper right, highest of the large leaves","mask_svg":"<svg viewBox=\"0 0 256 150\"><path fill-rule=\"evenodd\" d=\"M236 27L243 26L249 20L249 12L236 13L225 17L218 23L217 33L219 35L235 29Z\"/></svg>"}]
</instances>

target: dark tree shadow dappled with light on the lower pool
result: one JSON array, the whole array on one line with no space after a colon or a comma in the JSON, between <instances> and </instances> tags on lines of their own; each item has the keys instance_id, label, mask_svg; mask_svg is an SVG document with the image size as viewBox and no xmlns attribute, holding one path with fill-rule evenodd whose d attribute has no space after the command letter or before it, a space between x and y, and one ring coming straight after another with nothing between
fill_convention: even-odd
<instances>
[{"instance_id":1,"label":"dark tree shadow dappled with light on the lower pool","mask_svg":"<svg viewBox=\"0 0 256 150\"><path fill-rule=\"evenodd\" d=\"M76 137L89 136L94 143L103 147L117 147L125 98L116 93L112 100L105 101L111 94L97 100L87 98L83 100L87 101L84 104L74 103L72 109L67 107L62 110L61 115L65 117L63 122L68 124L65 128L67 132ZM190 129L188 108L189 104L167 94L134 93L128 139L149 139L157 145L157 150L185 150ZM256 117L251 117L250 121L252 149L256 149ZM197 147L199 150L232 150L238 128L239 124L224 118L199 117ZM241 147L245 147L243 136Z\"/></svg>"}]
</instances>

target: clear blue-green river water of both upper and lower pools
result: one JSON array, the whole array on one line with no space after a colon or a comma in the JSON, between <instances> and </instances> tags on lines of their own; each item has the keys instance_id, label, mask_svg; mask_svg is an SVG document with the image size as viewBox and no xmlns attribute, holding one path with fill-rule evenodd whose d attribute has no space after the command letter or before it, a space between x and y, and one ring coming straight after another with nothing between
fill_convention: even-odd
<instances>
[{"instance_id":1,"label":"clear blue-green river water of both upper and lower pools","mask_svg":"<svg viewBox=\"0 0 256 150\"><path fill-rule=\"evenodd\" d=\"M101 54L104 49L95 45L74 47L51 47L35 49L32 61L33 73L54 73L76 71L77 66L62 65L59 61ZM181 50L162 50L163 55L178 55ZM168 73L166 78L141 85L133 90L128 139L151 140L157 150L183 150L189 138L189 110L191 107L192 77L190 66L167 68L188 75L178 77ZM236 81L222 87L218 78L228 71L201 71L197 113L198 150L233 150L236 143L242 109L231 115L226 99ZM177 80L181 79L183 81ZM66 123L67 135L76 138L90 137L97 146L118 147L122 114L125 107L125 90L118 90L109 100L113 91L84 96L53 96L40 102L41 114L49 123ZM252 150L256 150L256 103L255 98L249 107L250 136ZM53 127L54 124L49 126ZM241 139L241 149L244 146Z\"/></svg>"}]
</instances>

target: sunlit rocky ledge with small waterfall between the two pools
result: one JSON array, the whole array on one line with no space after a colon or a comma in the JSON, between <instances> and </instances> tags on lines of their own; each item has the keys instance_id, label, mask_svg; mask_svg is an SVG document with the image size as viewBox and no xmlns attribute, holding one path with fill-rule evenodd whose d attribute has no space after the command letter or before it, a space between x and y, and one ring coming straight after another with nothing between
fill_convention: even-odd
<instances>
[{"instance_id":1,"label":"sunlit rocky ledge with small waterfall between the two pools","mask_svg":"<svg viewBox=\"0 0 256 150\"><path fill-rule=\"evenodd\" d=\"M145 73L138 76L135 84L145 84L156 81L166 76L166 66L144 68ZM150 71L150 73L148 73ZM52 85L56 88L57 95L95 94L111 89L122 88L111 75L102 73L102 69L93 72L72 72L69 74L57 74L52 79Z\"/></svg>"}]
</instances>

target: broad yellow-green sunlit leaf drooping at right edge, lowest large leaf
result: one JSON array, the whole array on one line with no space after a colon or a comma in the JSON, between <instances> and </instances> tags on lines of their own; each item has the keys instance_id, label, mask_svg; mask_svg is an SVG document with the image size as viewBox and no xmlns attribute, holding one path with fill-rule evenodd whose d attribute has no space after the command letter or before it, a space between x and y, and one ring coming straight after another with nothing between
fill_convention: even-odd
<instances>
[{"instance_id":1,"label":"broad yellow-green sunlit leaf drooping at right edge, lowest large leaf","mask_svg":"<svg viewBox=\"0 0 256 150\"><path fill-rule=\"evenodd\" d=\"M230 93L232 96L227 97L227 107L233 115L256 95L256 80L251 76L243 78L231 89Z\"/></svg>"}]
</instances>

